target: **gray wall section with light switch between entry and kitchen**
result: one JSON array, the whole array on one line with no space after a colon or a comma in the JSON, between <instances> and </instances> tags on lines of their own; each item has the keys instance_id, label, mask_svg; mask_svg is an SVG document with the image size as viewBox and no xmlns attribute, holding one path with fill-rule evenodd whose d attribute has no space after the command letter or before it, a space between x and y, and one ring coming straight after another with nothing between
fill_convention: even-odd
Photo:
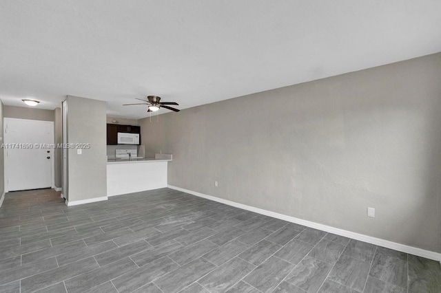
<instances>
[{"instance_id":1,"label":"gray wall section with light switch between entry and kitchen","mask_svg":"<svg viewBox=\"0 0 441 293\"><path fill-rule=\"evenodd\" d=\"M90 143L78 155L68 151L68 200L107 196L105 102L68 96L68 143Z\"/></svg>"}]
</instances>

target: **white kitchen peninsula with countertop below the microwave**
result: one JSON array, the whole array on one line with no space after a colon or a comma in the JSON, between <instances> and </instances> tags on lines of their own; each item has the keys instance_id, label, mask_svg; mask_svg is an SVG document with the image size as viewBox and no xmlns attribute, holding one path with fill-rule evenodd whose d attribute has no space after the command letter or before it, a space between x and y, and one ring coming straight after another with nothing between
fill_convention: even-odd
<instances>
[{"instance_id":1,"label":"white kitchen peninsula with countertop below the microwave","mask_svg":"<svg viewBox=\"0 0 441 293\"><path fill-rule=\"evenodd\" d=\"M172 155L107 160L107 197L167 187L167 164Z\"/></svg>"}]
</instances>

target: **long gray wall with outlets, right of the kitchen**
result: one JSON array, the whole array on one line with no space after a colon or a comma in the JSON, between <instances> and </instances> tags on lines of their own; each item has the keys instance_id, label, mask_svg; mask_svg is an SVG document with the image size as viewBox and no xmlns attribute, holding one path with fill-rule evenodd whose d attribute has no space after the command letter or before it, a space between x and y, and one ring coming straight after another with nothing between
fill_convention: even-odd
<instances>
[{"instance_id":1,"label":"long gray wall with outlets, right of the kitchen","mask_svg":"<svg viewBox=\"0 0 441 293\"><path fill-rule=\"evenodd\" d=\"M142 144L168 184L441 252L440 80L433 54L143 119Z\"/></svg>"}]
</instances>

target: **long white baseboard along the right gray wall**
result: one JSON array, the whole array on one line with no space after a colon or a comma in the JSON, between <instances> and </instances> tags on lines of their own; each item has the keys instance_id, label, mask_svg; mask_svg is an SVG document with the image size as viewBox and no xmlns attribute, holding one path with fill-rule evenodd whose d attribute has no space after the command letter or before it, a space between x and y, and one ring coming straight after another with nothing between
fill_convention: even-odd
<instances>
[{"instance_id":1,"label":"long white baseboard along the right gray wall","mask_svg":"<svg viewBox=\"0 0 441 293\"><path fill-rule=\"evenodd\" d=\"M390 249L393 249L393 250L398 250L398 251L401 251L401 252L417 255L418 257L425 257L427 259L433 259L435 261L441 261L441 253L438 253L438 252L433 252L433 251L430 251L430 250L424 250L424 249L416 248L416 247L413 247L413 246L407 246L407 245L404 245L404 244L401 244L401 243L392 242L392 241L389 241L389 240L384 240L384 239L380 239L380 238L376 238L376 237L371 237L371 236L359 234L359 233L356 233L356 232L351 232L351 231L342 230L342 229L339 229L339 228L334 228L334 227L323 225L323 224L318 224L318 223L315 223L313 221L307 221L307 220L299 219L299 218L296 218L296 217L291 217L291 216L287 216L287 215L283 215L283 214L279 214L279 213L274 213L274 212L271 212L269 210L263 210L262 208L255 208L254 206L247 206L246 204L239 204L237 202L232 202L232 201L229 201L227 199L221 199L219 197L214 197L214 196L211 196L211 195L205 195L203 193L198 193L196 191L189 191L188 189L177 187L177 186L168 185L167 187L171 188L171 189L174 189L176 191L182 191L184 193L189 193L191 195L196 195L198 197L203 197L205 199L210 199L210 200L212 200L214 202L220 202L221 204L227 204L229 206L234 206L236 208L242 208L243 210L250 210L250 211L252 211L254 213L259 213L261 215L266 215L266 216L269 216L269 217L274 217L274 218L277 218L277 219L282 219L284 221L290 221L292 223L296 223L296 224L299 224L299 225L315 228L315 229L322 230L322 231L325 231L325 232L334 233L336 235L340 235L340 236L344 236L344 237L349 237L349 238L352 238L352 239L364 241L364 242L371 243L371 244L378 245L378 246L382 246L382 247L385 247L385 248L390 248Z\"/></svg>"}]
</instances>

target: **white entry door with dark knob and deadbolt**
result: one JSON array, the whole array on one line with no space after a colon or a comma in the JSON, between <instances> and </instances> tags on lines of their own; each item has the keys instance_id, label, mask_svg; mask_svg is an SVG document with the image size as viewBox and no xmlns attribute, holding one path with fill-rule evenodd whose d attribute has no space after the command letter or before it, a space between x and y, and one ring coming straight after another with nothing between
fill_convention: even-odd
<instances>
[{"instance_id":1,"label":"white entry door with dark knob and deadbolt","mask_svg":"<svg viewBox=\"0 0 441 293\"><path fill-rule=\"evenodd\" d=\"M54 122L4 118L6 191L52 186Z\"/></svg>"}]
</instances>

